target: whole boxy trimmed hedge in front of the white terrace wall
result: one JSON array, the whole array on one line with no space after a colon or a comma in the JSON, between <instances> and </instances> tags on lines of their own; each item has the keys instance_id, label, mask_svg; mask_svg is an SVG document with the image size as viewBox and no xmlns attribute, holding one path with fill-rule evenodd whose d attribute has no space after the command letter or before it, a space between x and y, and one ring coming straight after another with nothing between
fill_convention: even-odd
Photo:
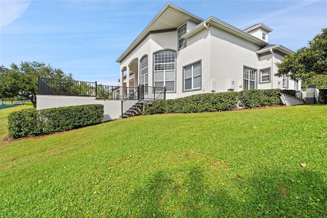
<instances>
[{"instance_id":1,"label":"whole boxy trimmed hedge in front of the white terrace wall","mask_svg":"<svg viewBox=\"0 0 327 218\"><path fill-rule=\"evenodd\" d=\"M28 108L12 112L8 116L9 137L17 139L46 135L101 123L103 113L102 104L56 107L40 111Z\"/></svg>"}]
</instances>

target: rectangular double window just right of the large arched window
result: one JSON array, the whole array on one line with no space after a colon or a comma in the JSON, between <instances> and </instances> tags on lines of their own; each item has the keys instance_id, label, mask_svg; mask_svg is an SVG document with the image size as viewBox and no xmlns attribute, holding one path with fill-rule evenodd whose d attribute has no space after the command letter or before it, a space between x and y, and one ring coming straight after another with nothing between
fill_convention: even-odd
<instances>
[{"instance_id":1,"label":"rectangular double window just right of the large arched window","mask_svg":"<svg viewBox=\"0 0 327 218\"><path fill-rule=\"evenodd\" d=\"M201 61L193 63L183 69L184 91L201 89Z\"/></svg>"}]
</instances>

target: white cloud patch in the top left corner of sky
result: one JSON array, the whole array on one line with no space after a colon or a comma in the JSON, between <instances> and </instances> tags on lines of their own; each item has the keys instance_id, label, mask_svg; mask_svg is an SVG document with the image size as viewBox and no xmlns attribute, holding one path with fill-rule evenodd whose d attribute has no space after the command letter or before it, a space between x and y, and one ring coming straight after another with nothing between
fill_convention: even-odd
<instances>
[{"instance_id":1,"label":"white cloud patch in the top left corner of sky","mask_svg":"<svg viewBox=\"0 0 327 218\"><path fill-rule=\"evenodd\" d=\"M19 18L31 4L31 1L0 1L0 26L4 27Z\"/></svg>"}]
</instances>

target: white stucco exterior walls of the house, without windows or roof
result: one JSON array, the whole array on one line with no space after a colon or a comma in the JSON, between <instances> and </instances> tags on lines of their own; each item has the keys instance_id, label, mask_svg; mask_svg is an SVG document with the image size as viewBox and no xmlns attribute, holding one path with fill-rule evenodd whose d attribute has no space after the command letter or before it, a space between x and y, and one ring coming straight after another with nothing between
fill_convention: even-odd
<instances>
[{"instance_id":1,"label":"white stucco exterior walls of the house, without windows or roof","mask_svg":"<svg viewBox=\"0 0 327 218\"><path fill-rule=\"evenodd\" d=\"M190 22L187 28L193 27ZM228 33L215 26L202 29L195 35L186 39L186 47L177 49L177 31L156 32L149 34L139 45L121 62L121 69L128 66L131 61L139 60L148 55L148 84L153 86L153 53L170 49L176 51L176 92L167 93L167 99L179 98L208 92L227 92L228 81L235 82L234 91L244 90L244 67L256 70L256 89L285 89L283 79L274 77L277 72L275 62L281 61L283 54L267 52L266 55L256 54L261 47L254 43ZM196 61L201 61L201 90L183 91L183 67ZM138 66L139 68L139 66ZM260 82L260 70L270 69L270 82ZM139 75L138 75L139 76ZM295 82L288 81L287 89L294 89ZM300 84L297 86L300 88Z\"/></svg>"}]
</instances>

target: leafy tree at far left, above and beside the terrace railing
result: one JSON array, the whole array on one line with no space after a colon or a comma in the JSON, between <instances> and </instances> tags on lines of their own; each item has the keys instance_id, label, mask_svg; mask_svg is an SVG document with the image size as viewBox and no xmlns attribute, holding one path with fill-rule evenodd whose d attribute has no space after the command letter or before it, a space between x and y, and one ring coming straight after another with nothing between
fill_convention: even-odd
<instances>
[{"instance_id":1,"label":"leafy tree at far left, above and beside the terrace railing","mask_svg":"<svg viewBox=\"0 0 327 218\"><path fill-rule=\"evenodd\" d=\"M38 77L72 80L72 74L64 74L61 69L46 66L42 62L21 62L10 64L10 68L0 67L0 98L21 96L29 99L36 107Z\"/></svg>"}]
</instances>

